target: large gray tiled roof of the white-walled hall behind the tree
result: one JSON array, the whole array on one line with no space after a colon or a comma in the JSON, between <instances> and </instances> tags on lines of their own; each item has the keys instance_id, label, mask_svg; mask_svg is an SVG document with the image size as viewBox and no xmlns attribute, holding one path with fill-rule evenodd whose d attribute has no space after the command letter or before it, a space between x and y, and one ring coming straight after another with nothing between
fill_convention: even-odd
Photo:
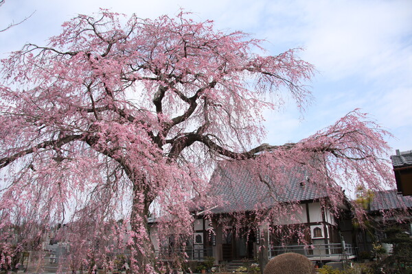
<instances>
[{"instance_id":1,"label":"large gray tiled roof of the white-walled hall behind the tree","mask_svg":"<svg viewBox=\"0 0 412 274\"><path fill-rule=\"evenodd\" d=\"M277 188L277 184L267 176L264 177L265 183L262 182L258 173L247 165L221 162L211 176L209 196L220 197L225 206L215 208L212 212L244 212L262 206L270 208L275 200L290 203L327 197L324 188L307 180L307 175L306 171L298 168L285 171L284 179L288 180L288 183Z\"/></svg>"}]
</instances>

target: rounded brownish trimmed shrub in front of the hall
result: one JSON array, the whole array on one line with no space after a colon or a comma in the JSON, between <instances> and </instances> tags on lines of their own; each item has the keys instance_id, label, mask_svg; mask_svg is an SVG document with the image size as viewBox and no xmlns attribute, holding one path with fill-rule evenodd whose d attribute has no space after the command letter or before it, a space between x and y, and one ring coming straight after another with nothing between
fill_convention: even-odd
<instances>
[{"instance_id":1,"label":"rounded brownish trimmed shrub in front of the hall","mask_svg":"<svg viewBox=\"0 0 412 274\"><path fill-rule=\"evenodd\" d=\"M284 253L268 262L263 274L314 274L312 262L298 253Z\"/></svg>"}]
</instances>

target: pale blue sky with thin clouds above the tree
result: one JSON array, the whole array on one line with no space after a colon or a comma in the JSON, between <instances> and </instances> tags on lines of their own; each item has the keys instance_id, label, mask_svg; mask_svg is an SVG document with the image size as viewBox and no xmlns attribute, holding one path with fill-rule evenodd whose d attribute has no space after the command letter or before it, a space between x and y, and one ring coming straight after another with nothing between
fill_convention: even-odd
<instances>
[{"instance_id":1,"label":"pale blue sky with thin clouds above the tree","mask_svg":"<svg viewBox=\"0 0 412 274\"><path fill-rule=\"evenodd\" d=\"M60 25L76 14L110 8L154 18L180 8L217 29L241 30L266 39L268 54L304 47L301 58L317 68L310 84L314 101L304 114L293 103L266 113L272 145L297 142L347 112L361 108L396 138L394 149L412 149L412 1L328 0L5 0L0 29L0 58L25 42L45 45Z\"/></svg>"}]
</instances>

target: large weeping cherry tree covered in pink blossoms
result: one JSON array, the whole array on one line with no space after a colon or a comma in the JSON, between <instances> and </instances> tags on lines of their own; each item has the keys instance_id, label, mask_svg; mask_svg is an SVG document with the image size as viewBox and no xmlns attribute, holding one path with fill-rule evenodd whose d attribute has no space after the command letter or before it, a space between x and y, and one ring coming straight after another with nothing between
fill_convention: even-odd
<instances>
[{"instance_id":1,"label":"large weeping cherry tree covered in pink blossoms","mask_svg":"<svg viewBox=\"0 0 412 274\"><path fill-rule=\"evenodd\" d=\"M218 160L278 178L279 192L282 169L306 166L332 206L339 186L393 184L388 133L358 110L295 144L251 147L264 140L264 110L310 101L314 68L300 49L258 55L262 40L183 12L125 21L101 10L62 29L1 60L1 265L19 227L21 249L52 233L69 242L71 269L110 269L113 254L130 250L133 273L157 273L150 212L159 240L184 242L191 210L218 203L206 197Z\"/></svg>"}]
</instances>

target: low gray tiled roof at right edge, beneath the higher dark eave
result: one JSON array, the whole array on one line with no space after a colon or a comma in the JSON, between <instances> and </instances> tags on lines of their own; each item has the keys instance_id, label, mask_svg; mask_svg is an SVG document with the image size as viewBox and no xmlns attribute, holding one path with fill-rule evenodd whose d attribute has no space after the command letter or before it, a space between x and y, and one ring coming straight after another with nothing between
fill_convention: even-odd
<instances>
[{"instance_id":1,"label":"low gray tiled roof at right edge, beneath the higher dark eave","mask_svg":"<svg viewBox=\"0 0 412 274\"><path fill-rule=\"evenodd\" d=\"M371 211L412 208L412 196L402 196L398 190L376 192L371 201Z\"/></svg>"}]
</instances>

